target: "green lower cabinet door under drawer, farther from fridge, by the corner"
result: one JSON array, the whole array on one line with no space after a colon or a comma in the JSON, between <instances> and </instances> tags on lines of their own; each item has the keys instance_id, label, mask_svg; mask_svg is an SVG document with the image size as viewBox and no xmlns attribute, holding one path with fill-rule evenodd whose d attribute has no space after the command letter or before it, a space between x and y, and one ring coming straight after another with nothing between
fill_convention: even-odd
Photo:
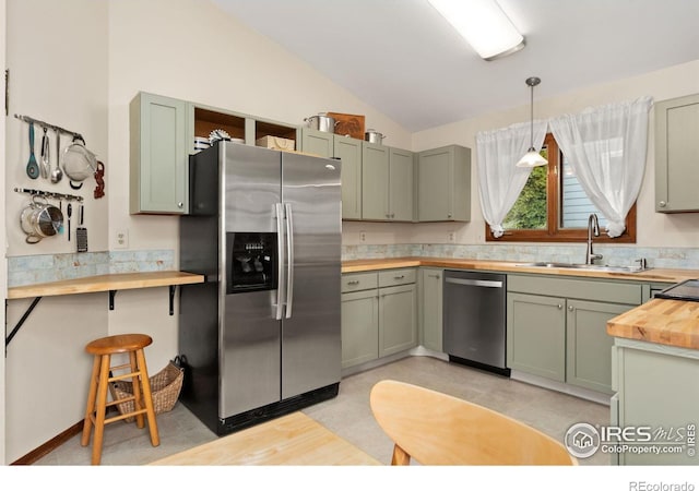
<instances>
[{"instance_id":1,"label":"green lower cabinet door under drawer, farther from fridge, by the corner","mask_svg":"<svg viewBox=\"0 0 699 491\"><path fill-rule=\"evenodd\" d=\"M417 346L415 285L379 289L379 357Z\"/></svg>"}]
</instances>

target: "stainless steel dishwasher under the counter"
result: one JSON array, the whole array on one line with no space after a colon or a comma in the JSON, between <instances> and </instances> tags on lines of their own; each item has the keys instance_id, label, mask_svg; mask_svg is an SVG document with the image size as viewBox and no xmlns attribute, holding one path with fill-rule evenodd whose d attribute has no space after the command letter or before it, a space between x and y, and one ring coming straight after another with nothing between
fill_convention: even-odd
<instances>
[{"instance_id":1,"label":"stainless steel dishwasher under the counter","mask_svg":"<svg viewBox=\"0 0 699 491\"><path fill-rule=\"evenodd\" d=\"M503 274L445 271L443 348L449 361L510 376L506 285Z\"/></svg>"}]
</instances>

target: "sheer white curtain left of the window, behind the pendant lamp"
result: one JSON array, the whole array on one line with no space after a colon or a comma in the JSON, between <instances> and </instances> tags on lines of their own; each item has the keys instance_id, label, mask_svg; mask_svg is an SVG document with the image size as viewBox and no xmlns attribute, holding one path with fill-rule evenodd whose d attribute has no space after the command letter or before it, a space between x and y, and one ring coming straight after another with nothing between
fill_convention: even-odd
<instances>
[{"instance_id":1,"label":"sheer white curtain left of the window, behind the pendant lamp","mask_svg":"<svg viewBox=\"0 0 699 491\"><path fill-rule=\"evenodd\" d=\"M546 121L534 121L534 148L541 151L546 137ZM495 238L505 232L502 220L519 197L531 168L517 167L531 145L531 123L476 133L478 188L483 217Z\"/></svg>"}]
</instances>

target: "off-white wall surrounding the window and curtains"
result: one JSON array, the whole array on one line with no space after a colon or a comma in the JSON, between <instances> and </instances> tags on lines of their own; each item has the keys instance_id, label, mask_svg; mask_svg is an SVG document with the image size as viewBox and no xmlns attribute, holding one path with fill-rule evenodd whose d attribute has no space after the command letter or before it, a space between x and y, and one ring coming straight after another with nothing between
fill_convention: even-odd
<instances>
[{"instance_id":1,"label":"off-white wall surrounding the window and curtains","mask_svg":"<svg viewBox=\"0 0 699 491\"><path fill-rule=\"evenodd\" d=\"M513 81L513 83L520 83ZM523 81L521 81L524 85ZM546 81L542 81L545 84ZM604 104L632 100L650 95L654 100L664 100L699 92L699 60L647 73L640 76L587 87L558 97L535 100L536 119L546 119L562 113L580 112L588 107ZM523 92L524 93L524 92ZM413 149L420 151L441 145L457 143L472 148L472 190L470 224L458 226L459 243L484 243L485 220L481 212L477 189L477 152L475 135L478 131L494 130L522 121L529 121L530 106L523 105L511 110L483 115L453 124L434 128L413 135ZM696 247L699 243L699 214L661 214L655 213L654 205L654 111L651 109L649 122L649 146L645 176L638 199L638 236L639 247ZM453 227L453 226L452 226ZM414 229L411 240L422 242L446 242L443 230L448 225L433 225L429 228L419 226Z\"/></svg>"}]
</instances>

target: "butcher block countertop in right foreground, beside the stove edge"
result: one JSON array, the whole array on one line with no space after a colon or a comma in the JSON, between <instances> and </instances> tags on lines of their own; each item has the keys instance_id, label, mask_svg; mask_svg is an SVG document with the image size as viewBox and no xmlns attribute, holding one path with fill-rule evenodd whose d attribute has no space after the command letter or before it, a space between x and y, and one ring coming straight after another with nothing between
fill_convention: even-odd
<instances>
[{"instance_id":1,"label":"butcher block countertop in right foreground, beside the stove edge","mask_svg":"<svg viewBox=\"0 0 699 491\"><path fill-rule=\"evenodd\" d=\"M699 349L699 302L653 299L607 322L607 334Z\"/></svg>"}]
</instances>

